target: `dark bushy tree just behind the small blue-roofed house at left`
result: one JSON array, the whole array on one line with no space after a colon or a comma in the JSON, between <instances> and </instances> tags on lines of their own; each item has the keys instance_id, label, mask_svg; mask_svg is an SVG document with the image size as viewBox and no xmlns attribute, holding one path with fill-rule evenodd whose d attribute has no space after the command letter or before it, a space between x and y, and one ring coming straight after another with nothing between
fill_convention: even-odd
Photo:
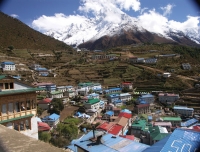
<instances>
[{"instance_id":1,"label":"dark bushy tree just behind the small blue-roofed house at left","mask_svg":"<svg viewBox=\"0 0 200 152\"><path fill-rule=\"evenodd\" d=\"M60 112L64 109L64 105L63 105L63 102L61 99L58 99L58 98L54 98L52 101L51 101L51 104L50 104L50 109L48 110L48 112L50 114L53 114L53 113L56 113L56 114L60 114Z\"/></svg>"}]
</instances>

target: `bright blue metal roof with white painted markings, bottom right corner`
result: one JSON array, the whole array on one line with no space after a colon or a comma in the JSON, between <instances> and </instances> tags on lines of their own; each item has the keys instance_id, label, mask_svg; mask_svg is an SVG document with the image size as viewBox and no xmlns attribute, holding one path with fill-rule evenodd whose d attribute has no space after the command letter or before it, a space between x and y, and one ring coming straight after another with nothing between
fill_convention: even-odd
<instances>
[{"instance_id":1,"label":"bright blue metal roof with white painted markings, bottom right corner","mask_svg":"<svg viewBox=\"0 0 200 152\"><path fill-rule=\"evenodd\" d=\"M161 152L188 152L200 150L200 132L176 129Z\"/></svg>"}]
</instances>

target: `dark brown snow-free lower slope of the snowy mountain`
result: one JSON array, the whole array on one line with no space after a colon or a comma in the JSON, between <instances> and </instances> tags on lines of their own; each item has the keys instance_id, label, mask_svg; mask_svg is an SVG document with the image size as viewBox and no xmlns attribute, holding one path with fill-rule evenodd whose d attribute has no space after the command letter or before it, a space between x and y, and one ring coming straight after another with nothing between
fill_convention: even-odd
<instances>
[{"instance_id":1,"label":"dark brown snow-free lower slope of the snowy mountain","mask_svg":"<svg viewBox=\"0 0 200 152\"><path fill-rule=\"evenodd\" d=\"M195 43L188 37L182 35L182 37L174 36L173 39L167 39L157 34L145 31L123 31L121 35L114 36L103 36L95 41L88 41L80 44L78 47L87 49L108 49L112 47L131 45L139 43L165 43L165 44L180 44L187 46L200 47L199 44Z\"/></svg>"}]
</instances>

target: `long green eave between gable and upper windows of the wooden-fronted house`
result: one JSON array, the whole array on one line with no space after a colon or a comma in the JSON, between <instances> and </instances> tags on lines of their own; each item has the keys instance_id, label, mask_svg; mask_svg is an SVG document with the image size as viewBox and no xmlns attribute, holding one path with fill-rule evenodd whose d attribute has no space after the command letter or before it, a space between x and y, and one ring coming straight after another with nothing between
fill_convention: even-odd
<instances>
[{"instance_id":1,"label":"long green eave between gable and upper windows of the wooden-fronted house","mask_svg":"<svg viewBox=\"0 0 200 152\"><path fill-rule=\"evenodd\" d=\"M20 89L20 90L9 90L9 91L1 91L0 95L9 95L9 94L18 94L18 93L28 93L44 90L42 88L28 88L28 89Z\"/></svg>"}]
</instances>

